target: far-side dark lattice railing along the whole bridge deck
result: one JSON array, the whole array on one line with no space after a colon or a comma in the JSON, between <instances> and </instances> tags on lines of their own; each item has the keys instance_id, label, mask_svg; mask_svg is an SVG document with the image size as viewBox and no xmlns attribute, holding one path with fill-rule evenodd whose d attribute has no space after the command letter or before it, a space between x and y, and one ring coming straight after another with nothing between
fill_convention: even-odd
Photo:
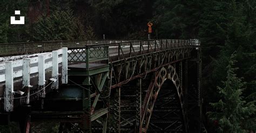
<instances>
[{"instance_id":1,"label":"far-side dark lattice railing along the whole bridge deck","mask_svg":"<svg viewBox=\"0 0 256 133\"><path fill-rule=\"evenodd\" d=\"M57 50L62 47L68 48L83 48L84 46L115 46L115 44L122 44L125 46L130 45L131 42L161 42L163 40L73 40L73 41L44 41L44 42L22 42L22 43L0 43L0 57L4 56L14 56L14 55L25 55L25 54L36 54L44 53L52 50ZM170 42L176 44L177 40L164 40L165 42ZM200 46L198 39L190 40L178 40L178 45L192 45Z\"/></svg>"}]
</instances>

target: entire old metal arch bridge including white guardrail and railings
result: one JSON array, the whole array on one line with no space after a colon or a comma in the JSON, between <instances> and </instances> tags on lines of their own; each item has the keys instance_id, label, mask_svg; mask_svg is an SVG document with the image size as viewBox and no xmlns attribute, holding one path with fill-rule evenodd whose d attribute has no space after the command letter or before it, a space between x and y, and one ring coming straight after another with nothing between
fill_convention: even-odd
<instances>
[{"instance_id":1,"label":"entire old metal arch bridge including white guardrail and railings","mask_svg":"<svg viewBox=\"0 0 256 133\"><path fill-rule=\"evenodd\" d=\"M0 122L59 132L201 132L201 48L190 40L0 44Z\"/></svg>"}]
</instances>

